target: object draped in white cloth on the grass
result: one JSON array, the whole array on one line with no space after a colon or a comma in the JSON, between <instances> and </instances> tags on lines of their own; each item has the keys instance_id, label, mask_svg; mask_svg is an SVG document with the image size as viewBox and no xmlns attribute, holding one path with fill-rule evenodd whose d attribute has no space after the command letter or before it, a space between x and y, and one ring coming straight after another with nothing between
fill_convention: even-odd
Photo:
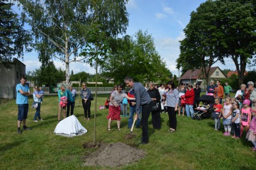
<instances>
[{"instance_id":1,"label":"object draped in white cloth on the grass","mask_svg":"<svg viewBox=\"0 0 256 170\"><path fill-rule=\"evenodd\" d=\"M60 121L56 126L54 133L65 135L65 136L75 136L75 135L83 135L87 132L86 128L84 128L81 123L77 120L76 116L68 116L64 120Z\"/></svg>"}]
</instances>

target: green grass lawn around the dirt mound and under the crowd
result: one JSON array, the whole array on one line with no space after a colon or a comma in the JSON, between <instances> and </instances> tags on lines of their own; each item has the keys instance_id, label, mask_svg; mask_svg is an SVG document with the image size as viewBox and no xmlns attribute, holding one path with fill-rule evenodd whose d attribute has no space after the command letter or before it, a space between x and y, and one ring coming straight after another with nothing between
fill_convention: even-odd
<instances>
[{"instance_id":1,"label":"green grass lawn around the dirt mound and under the crowd","mask_svg":"<svg viewBox=\"0 0 256 170\"><path fill-rule=\"evenodd\" d=\"M108 110L98 110L109 95L97 97L97 141L122 142L138 147L147 156L121 169L256 169L256 153L250 150L252 143L224 137L221 130L214 130L214 121L191 120L177 116L177 132L168 133L168 114L161 114L161 130L152 129L149 118L149 143L138 145L141 129L134 128L134 139L124 139L129 133L127 118L121 120L121 131L113 121L111 132L107 130ZM29 98L32 104L32 98ZM84 121L83 107L76 101L75 115L88 130L77 137L63 137L53 133L58 124L58 96L46 96L41 105L44 121L33 122L35 109L29 106L28 127L33 130L17 134L17 105L9 100L0 105L0 169L108 169L107 167L83 167L83 156L95 149L84 149L83 144L93 141L93 121ZM95 100L92 102L94 114ZM111 169L109 167L109 169ZM113 169L113 168L112 168Z\"/></svg>"}]
</instances>

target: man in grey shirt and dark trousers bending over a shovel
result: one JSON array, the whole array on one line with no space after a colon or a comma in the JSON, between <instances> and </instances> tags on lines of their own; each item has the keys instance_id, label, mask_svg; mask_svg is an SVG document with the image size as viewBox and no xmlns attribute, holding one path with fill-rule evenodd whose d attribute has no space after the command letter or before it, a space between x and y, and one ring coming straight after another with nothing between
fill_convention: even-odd
<instances>
[{"instance_id":1,"label":"man in grey shirt and dark trousers bending over a shovel","mask_svg":"<svg viewBox=\"0 0 256 170\"><path fill-rule=\"evenodd\" d=\"M134 96L136 98L136 114L135 119L138 119L138 114L141 109L141 127L142 127L142 140L140 144L148 143L148 117L152 110L151 98L148 95L147 90L140 82L134 82L132 77L125 77L124 82L126 86L132 88Z\"/></svg>"}]
</instances>

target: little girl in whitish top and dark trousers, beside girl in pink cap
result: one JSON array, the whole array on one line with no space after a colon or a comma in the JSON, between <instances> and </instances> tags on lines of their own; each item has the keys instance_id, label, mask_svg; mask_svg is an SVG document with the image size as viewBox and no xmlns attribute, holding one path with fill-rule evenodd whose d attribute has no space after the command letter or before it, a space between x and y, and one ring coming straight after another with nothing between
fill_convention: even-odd
<instances>
[{"instance_id":1,"label":"little girl in whitish top and dark trousers, beside girl in pink cap","mask_svg":"<svg viewBox=\"0 0 256 170\"><path fill-rule=\"evenodd\" d=\"M240 138L240 111L239 111L239 102L234 102L232 104L233 114L232 114L232 123L234 125L235 134L232 136L235 139Z\"/></svg>"}]
</instances>

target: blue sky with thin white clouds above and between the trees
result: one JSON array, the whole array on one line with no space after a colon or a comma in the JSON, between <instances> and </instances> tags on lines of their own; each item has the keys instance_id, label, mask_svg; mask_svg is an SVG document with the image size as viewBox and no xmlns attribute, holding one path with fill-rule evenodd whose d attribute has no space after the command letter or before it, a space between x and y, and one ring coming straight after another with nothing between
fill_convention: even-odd
<instances>
[{"instance_id":1,"label":"blue sky with thin white clouds above and between the trees","mask_svg":"<svg viewBox=\"0 0 256 170\"><path fill-rule=\"evenodd\" d=\"M148 31L152 35L156 50L166 62L168 69L179 76L176 66L176 59L179 57L179 41L184 39L183 29L189 22L190 13L195 11L201 3L206 0L130 0L127 4L129 13L129 27L127 35L134 35L139 29ZM29 52L24 55L22 61L26 70L35 70L41 66L36 52ZM36 59L35 59L36 58ZM54 61L56 67L65 69L60 61ZM227 60L227 65L216 64L221 69L229 68L235 70L232 62ZM71 70L74 73L88 72L95 73L95 69L85 63L71 63Z\"/></svg>"}]
</instances>

